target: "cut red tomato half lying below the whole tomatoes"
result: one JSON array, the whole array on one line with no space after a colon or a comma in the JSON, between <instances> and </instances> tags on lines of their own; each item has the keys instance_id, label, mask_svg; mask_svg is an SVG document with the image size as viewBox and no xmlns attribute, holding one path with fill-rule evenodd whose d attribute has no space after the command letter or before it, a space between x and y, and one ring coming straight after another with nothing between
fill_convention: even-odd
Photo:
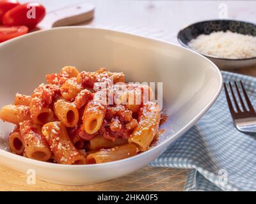
<instances>
[{"instance_id":1,"label":"cut red tomato half lying below the whole tomatoes","mask_svg":"<svg viewBox=\"0 0 256 204\"><path fill-rule=\"evenodd\" d=\"M26 33L28 33L28 27L24 25L13 27L0 26L0 43Z\"/></svg>"}]
</instances>

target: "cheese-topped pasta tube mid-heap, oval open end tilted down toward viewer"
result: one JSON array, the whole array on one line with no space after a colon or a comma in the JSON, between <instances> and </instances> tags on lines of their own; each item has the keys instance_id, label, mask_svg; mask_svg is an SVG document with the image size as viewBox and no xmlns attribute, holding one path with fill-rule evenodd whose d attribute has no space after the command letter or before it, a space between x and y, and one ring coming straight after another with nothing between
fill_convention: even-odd
<instances>
[{"instance_id":1,"label":"cheese-topped pasta tube mid-heap, oval open end tilted down toward viewer","mask_svg":"<svg viewBox=\"0 0 256 204\"><path fill-rule=\"evenodd\" d=\"M95 95L96 96L96 95ZM83 127L86 133L92 135L97 133L102 125L106 113L106 106L102 105L97 96L89 101L84 108Z\"/></svg>"}]
</instances>

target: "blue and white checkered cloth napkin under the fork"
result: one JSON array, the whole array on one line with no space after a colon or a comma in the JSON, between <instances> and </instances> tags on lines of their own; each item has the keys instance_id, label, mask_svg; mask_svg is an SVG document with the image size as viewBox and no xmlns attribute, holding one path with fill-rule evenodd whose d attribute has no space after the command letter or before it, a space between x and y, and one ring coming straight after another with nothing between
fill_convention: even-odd
<instances>
[{"instance_id":1,"label":"blue and white checkered cloth napkin under the fork","mask_svg":"<svg viewBox=\"0 0 256 204\"><path fill-rule=\"evenodd\" d=\"M242 80L256 109L256 78L222 75L225 82ZM256 191L256 133L237 131L222 91L202 119L150 165L191 169L186 191Z\"/></svg>"}]
</instances>

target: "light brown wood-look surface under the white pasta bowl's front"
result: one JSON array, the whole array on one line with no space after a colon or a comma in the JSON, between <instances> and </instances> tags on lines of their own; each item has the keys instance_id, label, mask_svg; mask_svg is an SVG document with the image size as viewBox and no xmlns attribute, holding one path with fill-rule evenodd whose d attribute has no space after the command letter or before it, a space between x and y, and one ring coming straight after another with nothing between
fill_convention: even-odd
<instances>
[{"instance_id":1,"label":"light brown wood-look surface under the white pasta bowl's front","mask_svg":"<svg viewBox=\"0 0 256 204\"><path fill-rule=\"evenodd\" d=\"M187 170L146 166L118 179L86 186L64 186L36 179L0 165L0 191L182 191Z\"/></svg>"}]
</instances>

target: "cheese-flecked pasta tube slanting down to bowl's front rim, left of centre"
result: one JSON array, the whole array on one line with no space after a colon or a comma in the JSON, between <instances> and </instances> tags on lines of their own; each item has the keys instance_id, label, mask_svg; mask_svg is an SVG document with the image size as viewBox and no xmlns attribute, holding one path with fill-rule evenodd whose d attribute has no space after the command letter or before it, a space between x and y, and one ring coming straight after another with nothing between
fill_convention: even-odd
<instances>
[{"instance_id":1,"label":"cheese-flecked pasta tube slanting down to bowl's front rim, left of centre","mask_svg":"<svg viewBox=\"0 0 256 204\"><path fill-rule=\"evenodd\" d=\"M66 127L60 121L49 122L42 127L52 154L58 163L61 164L86 164L86 158L79 152L70 138Z\"/></svg>"}]
</instances>

